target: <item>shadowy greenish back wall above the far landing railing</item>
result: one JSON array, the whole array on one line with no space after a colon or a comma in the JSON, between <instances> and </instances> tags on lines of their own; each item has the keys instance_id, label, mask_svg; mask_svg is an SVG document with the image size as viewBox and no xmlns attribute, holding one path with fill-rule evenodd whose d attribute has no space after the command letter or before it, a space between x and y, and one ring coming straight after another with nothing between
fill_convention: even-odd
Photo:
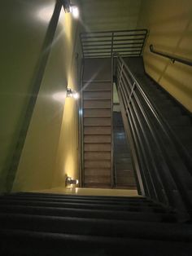
<instances>
[{"instance_id":1,"label":"shadowy greenish back wall above the far landing railing","mask_svg":"<svg viewBox=\"0 0 192 256\"><path fill-rule=\"evenodd\" d=\"M141 0L81 0L84 29L135 29Z\"/></svg>"}]
</instances>

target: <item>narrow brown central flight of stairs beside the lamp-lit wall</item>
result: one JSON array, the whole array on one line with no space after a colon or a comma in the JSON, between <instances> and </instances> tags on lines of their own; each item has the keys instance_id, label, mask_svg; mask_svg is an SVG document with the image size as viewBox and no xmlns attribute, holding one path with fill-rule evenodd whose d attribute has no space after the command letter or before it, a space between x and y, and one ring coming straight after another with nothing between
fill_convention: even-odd
<instances>
[{"instance_id":1,"label":"narrow brown central flight of stairs beside the lamp-lit wall","mask_svg":"<svg viewBox=\"0 0 192 256\"><path fill-rule=\"evenodd\" d=\"M111 188L111 59L85 59L83 186Z\"/></svg>"}]
</instances>

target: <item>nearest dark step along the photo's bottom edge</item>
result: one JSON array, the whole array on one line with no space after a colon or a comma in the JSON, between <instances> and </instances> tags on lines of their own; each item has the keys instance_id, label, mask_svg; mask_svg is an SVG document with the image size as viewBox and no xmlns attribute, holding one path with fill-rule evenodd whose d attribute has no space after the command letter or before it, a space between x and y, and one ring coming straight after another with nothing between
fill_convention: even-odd
<instances>
[{"instance_id":1,"label":"nearest dark step along the photo's bottom edge","mask_svg":"<svg viewBox=\"0 0 192 256\"><path fill-rule=\"evenodd\" d=\"M158 241L136 237L111 236L80 236L74 234L59 234L50 232L28 232L24 230L4 229L2 235L2 253L4 255L63 255L63 249L68 256L95 256L95 255L124 255L129 248L129 256L169 256L174 249L175 256L190 255L191 243L185 241ZM20 241L23 241L22 245ZM33 241L33 249L31 248ZM138 244L140 246L138 246Z\"/></svg>"}]
</instances>

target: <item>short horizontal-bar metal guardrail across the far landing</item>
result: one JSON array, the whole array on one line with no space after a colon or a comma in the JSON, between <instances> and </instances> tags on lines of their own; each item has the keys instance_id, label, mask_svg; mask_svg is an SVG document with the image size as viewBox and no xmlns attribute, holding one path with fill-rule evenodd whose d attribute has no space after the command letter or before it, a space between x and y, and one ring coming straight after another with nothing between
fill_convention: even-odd
<instances>
[{"instance_id":1,"label":"short horizontal-bar metal guardrail across the far landing","mask_svg":"<svg viewBox=\"0 0 192 256\"><path fill-rule=\"evenodd\" d=\"M122 56L140 56L147 29L81 33L84 58L107 58L115 52Z\"/></svg>"}]
</instances>

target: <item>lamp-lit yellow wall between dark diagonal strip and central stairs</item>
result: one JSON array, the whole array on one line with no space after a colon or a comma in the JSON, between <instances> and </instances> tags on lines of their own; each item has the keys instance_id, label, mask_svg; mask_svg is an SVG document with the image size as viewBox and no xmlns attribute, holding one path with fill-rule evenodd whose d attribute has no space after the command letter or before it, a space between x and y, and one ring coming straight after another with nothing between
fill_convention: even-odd
<instances>
[{"instance_id":1,"label":"lamp-lit yellow wall between dark diagonal strip and central stairs","mask_svg":"<svg viewBox=\"0 0 192 256\"><path fill-rule=\"evenodd\" d=\"M55 93L65 95L67 86L76 89L80 61L80 57L75 58L78 49L74 51L76 29L77 21L62 11L13 192L62 186L66 172L77 178L77 103L74 99L62 103L53 98Z\"/></svg>"}]
</instances>

